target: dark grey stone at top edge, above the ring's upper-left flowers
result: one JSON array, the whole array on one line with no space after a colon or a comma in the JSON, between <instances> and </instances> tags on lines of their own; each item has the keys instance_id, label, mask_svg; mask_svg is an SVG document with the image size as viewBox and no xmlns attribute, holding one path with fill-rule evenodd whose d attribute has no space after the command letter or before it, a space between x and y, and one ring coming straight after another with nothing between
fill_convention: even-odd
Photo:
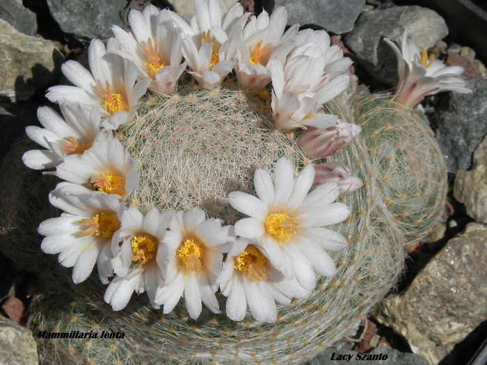
<instances>
[{"instance_id":1,"label":"dark grey stone at top edge, above the ring's upper-left flowers","mask_svg":"<svg viewBox=\"0 0 487 365\"><path fill-rule=\"evenodd\" d=\"M62 31L81 42L113 36L112 25L123 27L127 0L47 0L52 17Z\"/></svg>"}]
</instances>

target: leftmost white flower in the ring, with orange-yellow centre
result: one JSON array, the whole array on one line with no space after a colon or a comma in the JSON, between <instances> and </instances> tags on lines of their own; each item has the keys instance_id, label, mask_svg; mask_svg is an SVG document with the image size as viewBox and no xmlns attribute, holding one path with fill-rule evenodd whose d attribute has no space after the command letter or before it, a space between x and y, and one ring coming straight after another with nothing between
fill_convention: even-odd
<instances>
[{"instance_id":1,"label":"leftmost white flower in the ring, with orange-yellow centre","mask_svg":"<svg viewBox=\"0 0 487 365\"><path fill-rule=\"evenodd\" d=\"M59 107L63 117L48 106L38 108L38 120L45 128L26 127L27 136L46 148L24 153L22 161L28 168L53 168L68 154L83 154L99 133L98 108L72 102L60 102Z\"/></svg>"}]
</instances>

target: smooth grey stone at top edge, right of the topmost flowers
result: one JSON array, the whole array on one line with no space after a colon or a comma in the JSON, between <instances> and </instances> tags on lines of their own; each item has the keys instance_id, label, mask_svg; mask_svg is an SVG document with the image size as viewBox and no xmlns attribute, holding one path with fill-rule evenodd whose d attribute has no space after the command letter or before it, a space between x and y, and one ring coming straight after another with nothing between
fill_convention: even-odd
<instances>
[{"instance_id":1,"label":"smooth grey stone at top edge, right of the topmost flowers","mask_svg":"<svg viewBox=\"0 0 487 365\"><path fill-rule=\"evenodd\" d=\"M264 8L271 11L278 6L287 10L287 24L312 24L333 33L347 33L365 5L365 0L275 0L263 1Z\"/></svg>"}]
</instances>

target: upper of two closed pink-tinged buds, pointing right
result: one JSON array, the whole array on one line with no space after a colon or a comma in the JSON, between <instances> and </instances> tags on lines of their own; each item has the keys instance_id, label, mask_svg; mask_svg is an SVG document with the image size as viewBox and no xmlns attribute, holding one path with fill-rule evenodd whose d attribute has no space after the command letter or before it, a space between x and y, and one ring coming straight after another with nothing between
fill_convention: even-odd
<instances>
[{"instance_id":1,"label":"upper of two closed pink-tinged buds, pointing right","mask_svg":"<svg viewBox=\"0 0 487 365\"><path fill-rule=\"evenodd\" d=\"M339 119L333 127L307 129L301 134L299 143L311 159L321 159L349 145L361 130L358 125Z\"/></svg>"}]
</instances>

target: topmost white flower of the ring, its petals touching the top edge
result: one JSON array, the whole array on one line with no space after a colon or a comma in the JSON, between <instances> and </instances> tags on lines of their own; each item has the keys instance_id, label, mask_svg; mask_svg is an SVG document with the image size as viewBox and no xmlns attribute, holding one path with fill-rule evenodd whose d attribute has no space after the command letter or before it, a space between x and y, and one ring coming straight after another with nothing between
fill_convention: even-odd
<instances>
[{"instance_id":1,"label":"topmost white flower of the ring, its petals touching the top edge","mask_svg":"<svg viewBox=\"0 0 487 365\"><path fill-rule=\"evenodd\" d=\"M200 86L214 88L234 67L234 61L225 60L223 51L228 44L228 34L239 34L248 15L242 15L240 4L235 4L222 23L218 0L196 0L194 9L192 33L186 34L182 42L183 55L192 70L190 74Z\"/></svg>"}]
</instances>

